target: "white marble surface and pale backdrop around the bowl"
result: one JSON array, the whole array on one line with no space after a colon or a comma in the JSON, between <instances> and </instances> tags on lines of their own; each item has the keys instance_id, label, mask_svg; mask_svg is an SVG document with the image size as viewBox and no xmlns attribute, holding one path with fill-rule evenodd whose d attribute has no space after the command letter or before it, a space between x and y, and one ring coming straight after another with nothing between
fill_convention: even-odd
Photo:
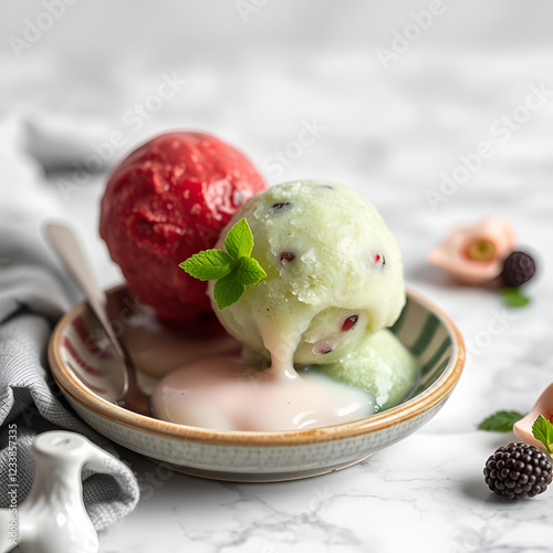
<instances>
[{"instance_id":1,"label":"white marble surface and pale backdrop around the bowl","mask_svg":"<svg viewBox=\"0 0 553 553\"><path fill-rule=\"evenodd\" d=\"M72 220L98 279L117 282L96 230L105 170L155 133L205 129L271 184L322 177L365 195L400 242L409 285L451 315L471 349L430 424L342 472L231 484L125 453L143 499L102 535L102 552L551 551L553 491L512 504L491 497L483 463L512 436L476 426L498 409L530 409L553 379L552 4L65 2L0 2L0 217L36 240L42 219ZM430 9L421 30L417 14ZM384 66L378 49L397 50L404 33L405 52ZM158 102L164 74L175 91ZM525 112L532 87L542 102ZM138 104L149 107L140 115ZM271 157L306 123L324 129L275 168ZM113 133L124 145L109 150ZM482 142L493 155L432 207L441 173ZM75 164L90 170L75 175ZM508 217L540 262L532 305L508 314L497 295L425 263L451 225L491 213ZM500 335L487 331L492 321Z\"/></svg>"}]
</instances>

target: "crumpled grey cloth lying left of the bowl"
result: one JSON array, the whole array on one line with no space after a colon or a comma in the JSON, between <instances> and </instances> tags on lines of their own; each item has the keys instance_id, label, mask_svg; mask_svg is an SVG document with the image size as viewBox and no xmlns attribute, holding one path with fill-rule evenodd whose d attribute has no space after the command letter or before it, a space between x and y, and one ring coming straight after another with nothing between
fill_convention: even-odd
<instances>
[{"instance_id":1,"label":"crumpled grey cloth lying left of the bowl","mask_svg":"<svg viewBox=\"0 0 553 553\"><path fill-rule=\"evenodd\" d=\"M14 231L13 220L6 219L8 216L0 221L0 507L4 508L10 503L8 463L13 462L13 450L18 503L31 489L34 462L30 446L39 432L73 430L118 457L108 440L71 410L48 371L50 333L76 296L52 264L38 229ZM13 429L15 446L10 442ZM83 498L92 522L101 530L135 508L138 483L124 466L112 476L83 470Z\"/></svg>"}]
</instances>

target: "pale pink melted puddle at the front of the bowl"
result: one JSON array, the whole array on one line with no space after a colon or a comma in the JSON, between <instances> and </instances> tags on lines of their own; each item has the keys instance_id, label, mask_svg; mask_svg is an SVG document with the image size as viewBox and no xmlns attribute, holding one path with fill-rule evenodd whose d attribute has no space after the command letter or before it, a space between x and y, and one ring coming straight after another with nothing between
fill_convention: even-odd
<instances>
[{"instance_id":1,"label":"pale pink melted puddle at the front of the bowl","mask_svg":"<svg viewBox=\"0 0 553 553\"><path fill-rule=\"evenodd\" d=\"M218 430L303 430L374 413L369 395L358 388L316 372L260 371L232 355L174 371L152 403L160 419Z\"/></svg>"}]
</instances>

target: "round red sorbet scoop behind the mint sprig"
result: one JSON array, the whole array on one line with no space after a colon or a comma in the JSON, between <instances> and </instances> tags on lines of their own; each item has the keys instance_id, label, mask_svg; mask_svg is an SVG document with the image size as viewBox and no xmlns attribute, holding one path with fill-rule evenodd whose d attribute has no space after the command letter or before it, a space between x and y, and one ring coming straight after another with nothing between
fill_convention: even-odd
<instances>
[{"instance_id":1,"label":"round red sorbet scoop behind the mint sprig","mask_svg":"<svg viewBox=\"0 0 553 553\"><path fill-rule=\"evenodd\" d=\"M265 182L243 154L202 133L157 136L111 174L100 233L128 288L158 315L191 321L211 310L206 282L178 264L212 248Z\"/></svg>"}]
</instances>

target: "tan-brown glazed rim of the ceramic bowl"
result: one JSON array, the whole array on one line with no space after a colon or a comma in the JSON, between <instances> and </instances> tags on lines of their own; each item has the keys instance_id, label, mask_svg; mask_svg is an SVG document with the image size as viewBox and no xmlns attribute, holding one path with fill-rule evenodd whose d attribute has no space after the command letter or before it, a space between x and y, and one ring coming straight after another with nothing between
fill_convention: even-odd
<instances>
[{"instance_id":1,"label":"tan-brown glazed rim of the ceramic bowl","mask_svg":"<svg viewBox=\"0 0 553 553\"><path fill-rule=\"evenodd\" d=\"M124 286L124 285L123 285ZM114 290L121 286L116 286ZM71 321L86 304L85 301L76 304L55 325L50 337L48 356L52 375L61 390L87 410L93 411L102 418L129 427L135 430L160 435L166 438L177 438L187 441L206 442L209 445L240 445L240 446L269 446L281 447L290 445L307 445L324 441L334 441L345 438L354 438L361 435L385 430L394 425L406 422L422 413L431 409L445 400L456 386L461 376L466 359L465 343L461 333L439 307L424 295L407 288L409 299L422 304L429 312L434 313L446 326L451 338L451 357L440 377L422 393L390 407L379 414L372 415L351 422L312 428L307 430L286 431L240 431L240 430L215 430L209 428L192 427L168 422L138 415L118 405L112 404L90 390L75 374L63 363L60 354L61 335L69 321Z\"/></svg>"}]
</instances>

